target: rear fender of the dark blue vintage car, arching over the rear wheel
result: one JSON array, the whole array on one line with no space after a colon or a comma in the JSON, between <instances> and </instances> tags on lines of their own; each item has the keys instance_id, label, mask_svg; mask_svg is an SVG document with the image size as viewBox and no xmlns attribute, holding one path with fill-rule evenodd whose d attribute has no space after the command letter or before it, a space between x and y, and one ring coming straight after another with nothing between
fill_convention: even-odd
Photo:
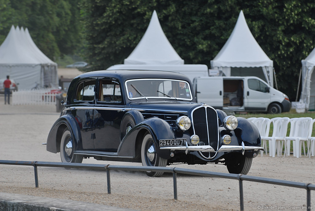
<instances>
[{"instance_id":1,"label":"rear fender of the dark blue vintage car, arching over the rear wheel","mask_svg":"<svg viewBox=\"0 0 315 211\"><path fill-rule=\"evenodd\" d=\"M80 128L77 125L76 120L71 115L65 114L55 121L49 131L46 145L47 151L52 153L60 152L60 140L66 127L69 128L73 142L76 143L74 146L76 149L74 150L77 150L79 140L81 140Z\"/></svg>"}]
</instances>

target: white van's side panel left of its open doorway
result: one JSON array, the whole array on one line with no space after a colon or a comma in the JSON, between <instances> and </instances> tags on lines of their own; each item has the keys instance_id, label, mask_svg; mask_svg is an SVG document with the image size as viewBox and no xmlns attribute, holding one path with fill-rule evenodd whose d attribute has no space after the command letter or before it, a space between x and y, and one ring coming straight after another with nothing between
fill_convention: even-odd
<instances>
[{"instance_id":1,"label":"white van's side panel left of its open doorway","mask_svg":"<svg viewBox=\"0 0 315 211\"><path fill-rule=\"evenodd\" d=\"M201 77L194 80L196 101L215 109L223 108L223 78Z\"/></svg>"}]
</instances>

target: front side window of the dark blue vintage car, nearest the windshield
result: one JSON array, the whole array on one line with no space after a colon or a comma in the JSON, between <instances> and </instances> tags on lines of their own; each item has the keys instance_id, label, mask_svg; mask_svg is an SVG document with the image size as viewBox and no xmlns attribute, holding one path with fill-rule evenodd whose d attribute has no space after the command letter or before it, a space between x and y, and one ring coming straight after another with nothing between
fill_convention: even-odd
<instances>
[{"instance_id":1,"label":"front side window of the dark blue vintage car, nearest the windshield","mask_svg":"<svg viewBox=\"0 0 315 211\"><path fill-rule=\"evenodd\" d=\"M100 80L99 102L121 103L122 96L120 85L112 80Z\"/></svg>"}]
</instances>

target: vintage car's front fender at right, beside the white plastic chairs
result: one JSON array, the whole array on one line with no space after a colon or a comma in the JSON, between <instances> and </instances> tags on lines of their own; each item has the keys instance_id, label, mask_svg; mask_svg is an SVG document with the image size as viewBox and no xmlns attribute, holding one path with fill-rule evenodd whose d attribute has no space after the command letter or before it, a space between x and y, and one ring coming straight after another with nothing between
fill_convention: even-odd
<instances>
[{"instance_id":1,"label":"vintage car's front fender at right, beside the white plastic chairs","mask_svg":"<svg viewBox=\"0 0 315 211\"><path fill-rule=\"evenodd\" d=\"M238 127L234 132L239 143L243 141L245 146L261 147L261 137L255 124L243 117L237 117L237 119Z\"/></svg>"}]
</instances>

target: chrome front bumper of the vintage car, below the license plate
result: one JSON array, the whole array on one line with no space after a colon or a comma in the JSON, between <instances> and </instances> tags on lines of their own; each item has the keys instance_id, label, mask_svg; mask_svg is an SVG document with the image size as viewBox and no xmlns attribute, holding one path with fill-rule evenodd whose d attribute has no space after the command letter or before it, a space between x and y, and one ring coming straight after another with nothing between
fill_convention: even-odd
<instances>
[{"instance_id":1,"label":"chrome front bumper of the vintage car, below the license plate","mask_svg":"<svg viewBox=\"0 0 315 211\"><path fill-rule=\"evenodd\" d=\"M265 150L263 147L251 147L251 146L245 146L244 142L242 142L242 146L229 146L229 145L223 145L215 151L211 146L209 145L204 145L204 146L169 146L169 147L160 147L160 149L170 149L170 150L184 150L186 151L203 151L203 152L230 152L230 151L235 151L235 150L242 150L243 152L245 150Z\"/></svg>"}]
</instances>

